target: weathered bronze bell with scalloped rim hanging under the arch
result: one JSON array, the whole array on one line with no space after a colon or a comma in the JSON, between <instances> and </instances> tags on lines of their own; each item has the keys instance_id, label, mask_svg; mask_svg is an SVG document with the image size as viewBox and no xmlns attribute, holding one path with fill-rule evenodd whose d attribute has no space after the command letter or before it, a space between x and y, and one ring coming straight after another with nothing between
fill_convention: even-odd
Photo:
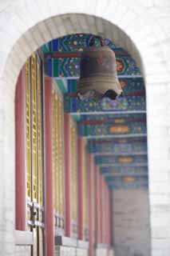
<instances>
[{"instance_id":1,"label":"weathered bronze bell with scalloped rim hanging under the arch","mask_svg":"<svg viewBox=\"0 0 170 256\"><path fill-rule=\"evenodd\" d=\"M94 46L95 38L101 46ZM115 99L122 95L117 78L117 64L113 50L105 46L101 37L93 37L81 55L81 76L77 85L77 98Z\"/></svg>"}]
</instances>

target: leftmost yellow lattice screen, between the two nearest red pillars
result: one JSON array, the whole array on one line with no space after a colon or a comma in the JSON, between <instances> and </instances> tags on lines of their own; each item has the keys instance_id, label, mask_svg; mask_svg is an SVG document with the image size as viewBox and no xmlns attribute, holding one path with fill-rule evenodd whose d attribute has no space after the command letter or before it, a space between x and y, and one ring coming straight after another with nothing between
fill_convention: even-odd
<instances>
[{"instance_id":1,"label":"leftmost yellow lattice screen, between the two nearest red pillars","mask_svg":"<svg viewBox=\"0 0 170 256\"><path fill-rule=\"evenodd\" d=\"M40 256L44 245L42 146L42 70L37 54L32 54L26 61L27 221L28 230L34 231L34 255Z\"/></svg>"}]
</instances>

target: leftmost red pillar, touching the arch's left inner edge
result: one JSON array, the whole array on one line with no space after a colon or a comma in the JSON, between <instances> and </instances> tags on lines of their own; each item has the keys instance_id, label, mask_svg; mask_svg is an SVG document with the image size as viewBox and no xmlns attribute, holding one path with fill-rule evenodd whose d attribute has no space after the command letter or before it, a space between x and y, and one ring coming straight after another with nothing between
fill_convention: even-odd
<instances>
[{"instance_id":1,"label":"leftmost red pillar, touching the arch's left inner edge","mask_svg":"<svg viewBox=\"0 0 170 256\"><path fill-rule=\"evenodd\" d=\"M26 230L26 72L22 68L15 93L15 226Z\"/></svg>"}]
</instances>

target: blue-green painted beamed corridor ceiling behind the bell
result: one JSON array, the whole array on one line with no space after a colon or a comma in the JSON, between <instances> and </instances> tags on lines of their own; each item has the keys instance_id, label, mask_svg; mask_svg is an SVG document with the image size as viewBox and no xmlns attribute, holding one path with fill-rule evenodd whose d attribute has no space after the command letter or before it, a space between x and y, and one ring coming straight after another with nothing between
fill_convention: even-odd
<instances>
[{"instance_id":1,"label":"blue-green painted beamed corridor ceiling behind the bell","mask_svg":"<svg viewBox=\"0 0 170 256\"><path fill-rule=\"evenodd\" d=\"M42 46L45 73L53 77L65 98L65 112L77 121L78 133L87 139L110 189L148 187L147 127L144 79L136 62L109 39L116 54L117 74L125 97L78 101L80 57L91 34L71 34Z\"/></svg>"}]
</instances>

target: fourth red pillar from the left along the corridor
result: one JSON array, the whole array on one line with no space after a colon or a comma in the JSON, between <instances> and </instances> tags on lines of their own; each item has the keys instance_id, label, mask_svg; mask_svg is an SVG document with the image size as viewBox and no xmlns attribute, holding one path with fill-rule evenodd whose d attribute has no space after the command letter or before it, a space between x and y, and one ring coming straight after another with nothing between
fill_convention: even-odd
<instances>
[{"instance_id":1,"label":"fourth red pillar from the left along the corridor","mask_svg":"<svg viewBox=\"0 0 170 256\"><path fill-rule=\"evenodd\" d=\"M84 141L81 136L78 137L78 238L83 240L83 160L84 160Z\"/></svg>"}]
</instances>

